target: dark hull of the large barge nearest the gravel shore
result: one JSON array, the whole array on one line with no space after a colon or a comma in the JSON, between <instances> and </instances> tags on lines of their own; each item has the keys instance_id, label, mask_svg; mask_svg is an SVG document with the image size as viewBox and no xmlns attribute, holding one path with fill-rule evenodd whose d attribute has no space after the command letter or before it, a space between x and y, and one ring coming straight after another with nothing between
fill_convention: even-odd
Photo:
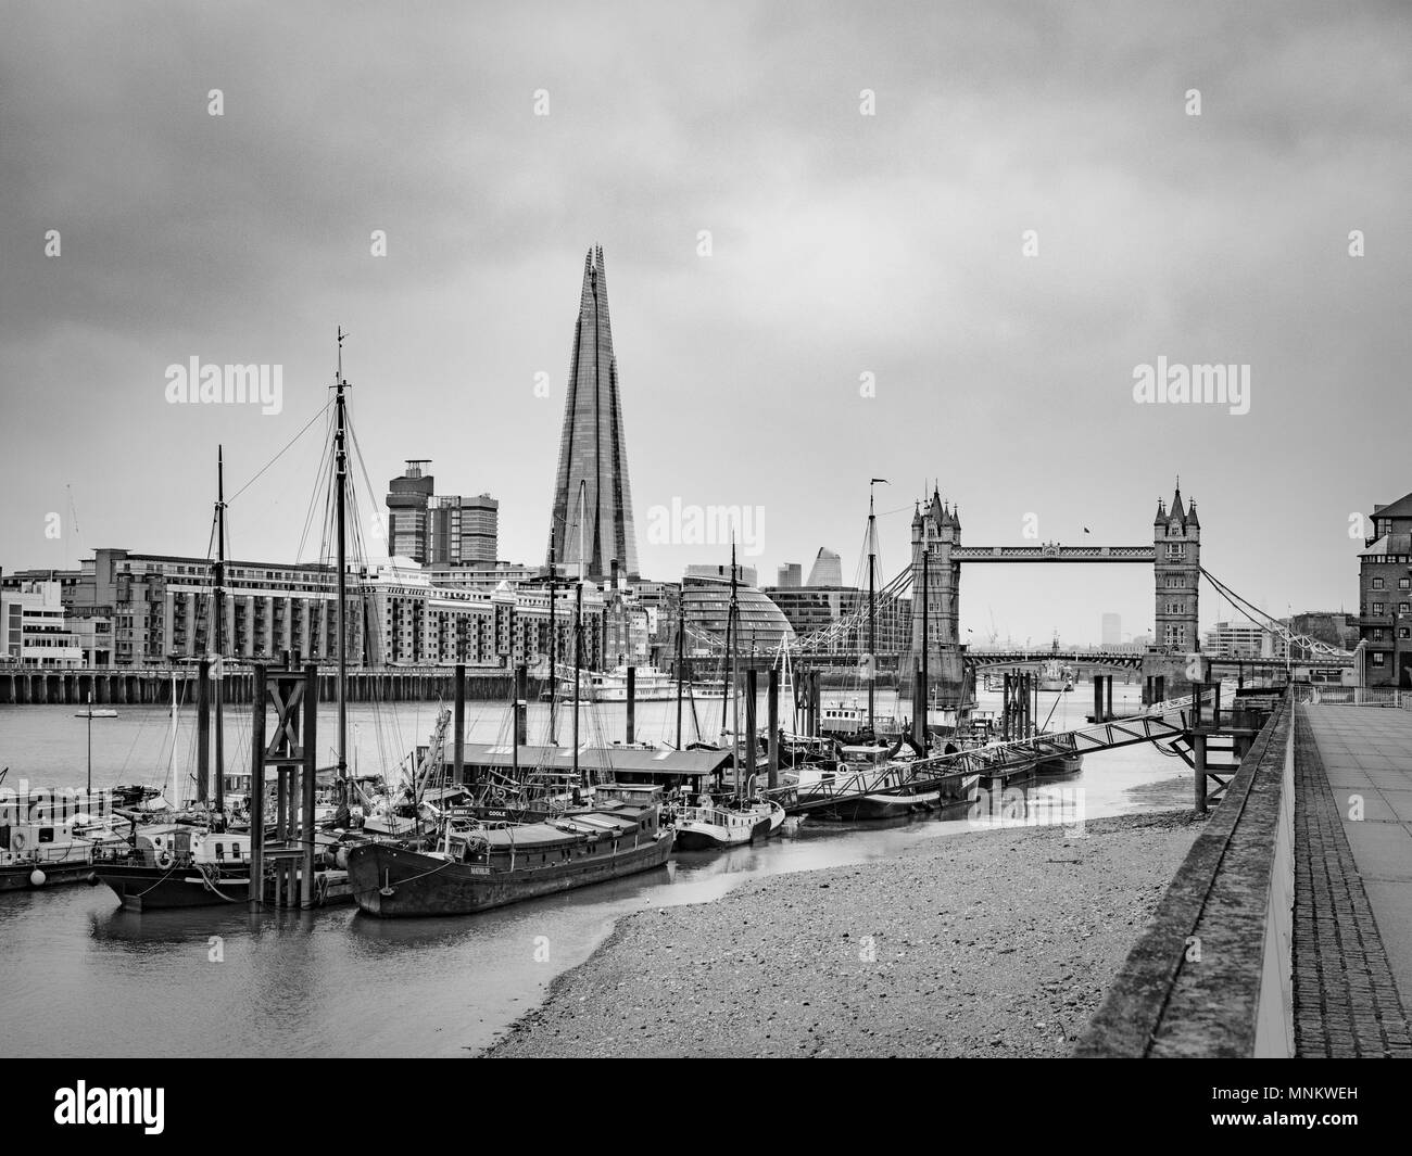
<instances>
[{"instance_id":1,"label":"dark hull of the large barge nearest the gravel shore","mask_svg":"<svg viewBox=\"0 0 1412 1156\"><path fill-rule=\"evenodd\" d=\"M407 851L364 844L349 853L349 885L359 908L380 919L474 915L541 895L555 895L666 862L672 836L661 833L617 854L607 853L552 865L493 871ZM390 891L390 895L384 895Z\"/></svg>"}]
</instances>

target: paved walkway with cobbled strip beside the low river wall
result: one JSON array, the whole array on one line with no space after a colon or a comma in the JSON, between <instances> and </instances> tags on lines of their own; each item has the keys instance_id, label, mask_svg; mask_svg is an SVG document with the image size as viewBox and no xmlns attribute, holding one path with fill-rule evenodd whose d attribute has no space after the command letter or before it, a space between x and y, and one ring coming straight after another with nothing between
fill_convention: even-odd
<instances>
[{"instance_id":1,"label":"paved walkway with cobbled strip beside the low river wall","mask_svg":"<svg viewBox=\"0 0 1412 1156\"><path fill-rule=\"evenodd\" d=\"M1296 1053L1412 1057L1412 710L1299 707L1295 755Z\"/></svg>"}]
</instances>

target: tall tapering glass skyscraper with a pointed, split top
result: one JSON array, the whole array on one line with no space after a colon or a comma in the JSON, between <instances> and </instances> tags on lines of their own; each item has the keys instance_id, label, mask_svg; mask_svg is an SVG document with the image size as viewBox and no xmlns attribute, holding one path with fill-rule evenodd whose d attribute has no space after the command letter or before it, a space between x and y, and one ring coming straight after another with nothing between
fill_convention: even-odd
<instances>
[{"instance_id":1,"label":"tall tapering glass skyscraper with a pointed, split top","mask_svg":"<svg viewBox=\"0 0 1412 1156\"><path fill-rule=\"evenodd\" d=\"M633 490L627 480L623 407L609 325L609 287L603 250L597 246L583 260L583 294L573 329L549 542L561 573L578 574L582 543L589 580L638 576Z\"/></svg>"}]
</instances>

